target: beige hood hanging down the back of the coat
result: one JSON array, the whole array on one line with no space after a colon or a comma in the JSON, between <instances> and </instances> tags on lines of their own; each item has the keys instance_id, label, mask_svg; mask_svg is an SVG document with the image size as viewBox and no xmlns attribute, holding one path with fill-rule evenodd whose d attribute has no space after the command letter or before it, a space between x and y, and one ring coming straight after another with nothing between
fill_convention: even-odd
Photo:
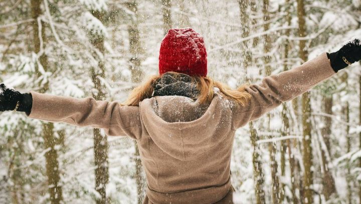
<instances>
[{"instance_id":1,"label":"beige hood hanging down the back of the coat","mask_svg":"<svg viewBox=\"0 0 361 204\"><path fill-rule=\"evenodd\" d=\"M139 103L143 124L154 143L183 161L196 159L223 142L215 131L230 125L227 120L231 118L222 115L229 115L231 105L218 93L210 104L179 95L154 96Z\"/></svg>"}]
</instances>

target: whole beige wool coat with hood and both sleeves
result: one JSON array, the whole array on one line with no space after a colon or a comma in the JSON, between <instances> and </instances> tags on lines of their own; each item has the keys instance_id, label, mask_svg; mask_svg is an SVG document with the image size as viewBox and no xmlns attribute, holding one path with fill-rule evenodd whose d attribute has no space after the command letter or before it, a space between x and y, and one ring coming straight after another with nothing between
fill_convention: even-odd
<instances>
[{"instance_id":1,"label":"whole beige wool coat with hood and both sleeves","mask_svg":"<svg viewBox=\"0 0 361 204\"><path fill-rule=\"evenodd\" d=\"M28 116L136 139L146 173L147 203L221 203L231 189L236 129L334 74L322 53L251 84L246 91L252 97L245 106L233 105L218 93L207 106L185 96L154 96L139 106L122 106L117 101L30 91L33 106Z\"/></svg>"}]
</instances>

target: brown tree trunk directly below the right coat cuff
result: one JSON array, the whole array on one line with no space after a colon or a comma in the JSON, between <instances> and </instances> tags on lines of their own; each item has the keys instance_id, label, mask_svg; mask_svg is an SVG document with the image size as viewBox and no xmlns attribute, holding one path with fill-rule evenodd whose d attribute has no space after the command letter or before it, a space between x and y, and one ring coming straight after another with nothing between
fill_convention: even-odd
<instances>
[{"instance_id":1,"label":"brown tree trunk directly below the right coat cuff","mask_svg":"<svg viewBox=\"0 0 361 204\"><path fill-rule=\"evenodd\" d=\"M323 111L327 114L332 114L332 95L324 96L324 105ZM322 159L322 168L323 168L323 195L325 199L328 200L330 196L336 192L336 187L334 184L334 178L332 173L328 169L328 162L326 158L326 153L330 150L330 135L331 135L331 125L332 125L332 118L331 117L324 117L325 126L322 128L322 136L323 141L326 144L326 149L321 148L321 159Z\"/></svg>"}]
</instances>

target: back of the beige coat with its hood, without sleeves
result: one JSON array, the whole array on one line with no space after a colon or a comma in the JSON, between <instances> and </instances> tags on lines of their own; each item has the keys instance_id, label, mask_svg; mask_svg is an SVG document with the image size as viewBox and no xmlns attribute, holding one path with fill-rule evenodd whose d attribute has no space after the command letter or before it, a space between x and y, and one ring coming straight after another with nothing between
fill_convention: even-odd
<instances>
[{"instance_id":1,"label":"back of the beige coat with its hood, without sleeves","mask_svg":"<svg viewBox=\"0 0 361 204\"><path fill-rule=\"evenodd\" d=\"M227 194L235 132L231 108L220 94L206 108L178 95L139 104L143 131L137 140L151 200L186 203L192 196L194 203L214 203ZM200 109L204 114L196 116Z\"/></svg>"}]
</instances>

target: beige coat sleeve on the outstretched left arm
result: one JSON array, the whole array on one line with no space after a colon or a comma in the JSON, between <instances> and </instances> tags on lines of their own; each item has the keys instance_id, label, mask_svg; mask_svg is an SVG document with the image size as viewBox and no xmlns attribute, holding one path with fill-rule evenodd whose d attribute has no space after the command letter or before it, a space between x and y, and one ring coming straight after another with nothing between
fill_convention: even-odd
<instances>
[{"instance_id":1,"label":"beige coat sleeve on the outstretched left arm","mask_svg":"<svg viewBox=\"0 0 361 204\"><path fill-rule=\"evenodd\" d=\"M117 101L76 98L30 91L33 97L31 118L65 122L75 126L103 128L107 135L138 138L142 131L138 106Z\"/></svg>"}]
</instances>

